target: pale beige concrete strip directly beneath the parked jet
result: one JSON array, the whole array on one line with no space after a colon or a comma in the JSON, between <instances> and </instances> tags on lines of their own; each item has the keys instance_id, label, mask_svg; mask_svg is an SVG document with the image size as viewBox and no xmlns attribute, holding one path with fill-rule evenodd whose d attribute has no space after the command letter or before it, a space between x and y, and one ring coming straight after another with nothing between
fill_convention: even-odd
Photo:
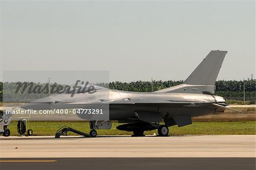
<instances>
[{"instance_id":1,"label":"pale beige concrete strip directly beneath the parked jet","mask_svg":"<svg viewBox=\"0 0 256 170\"><path fill-rule=\"evenodd\" d=\"M256 135L0 137L4 157L255 157Z\"/></svg>"}]
</instances>

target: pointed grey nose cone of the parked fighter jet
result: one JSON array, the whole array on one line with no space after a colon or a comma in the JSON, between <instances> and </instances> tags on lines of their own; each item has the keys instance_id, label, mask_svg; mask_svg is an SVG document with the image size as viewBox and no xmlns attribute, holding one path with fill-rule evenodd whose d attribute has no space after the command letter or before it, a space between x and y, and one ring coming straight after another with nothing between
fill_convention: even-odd
<instances>
[{"instance_id":1,"label":"pointed grey nose cone of the parked fighter jet","mask_svg":"<svg viewBox=\"0 0 256 170\"><path fill-rule=\"evenodd\" d=\"M22 109L47 110L52 109L52 99L45 97L37 99L21 107Z\"/></svg>"}]
</instances>

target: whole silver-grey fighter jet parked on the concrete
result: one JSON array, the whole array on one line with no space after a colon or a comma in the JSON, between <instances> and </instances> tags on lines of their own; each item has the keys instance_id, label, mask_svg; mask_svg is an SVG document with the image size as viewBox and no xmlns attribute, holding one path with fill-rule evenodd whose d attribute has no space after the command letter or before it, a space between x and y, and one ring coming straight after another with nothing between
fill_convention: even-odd
<instances>
[{"instance_id":1,"label":"whole silver-grey fighter jet parked on the concrete","mask_svg":"<svg viewBox=\"0 0 256 170\"><path fill-rule=\"evenodd\" d=\"M125 123L118 130L142 136L144 131L158 130L168 136L169 127L190 125L192 117L223 113L225 99L214 96L215 82L227 51L210 51L181 85L155 92L126 92L95 86L95 93L57 94L23 106L23 109L86 109L98 105L109 109L109 119L90 121L91 136L97 129L111 128L113 121ZM78 117L82 115L77 114ZM162 123L164 122L164 124Z\"/></svg>"}]
</instances>

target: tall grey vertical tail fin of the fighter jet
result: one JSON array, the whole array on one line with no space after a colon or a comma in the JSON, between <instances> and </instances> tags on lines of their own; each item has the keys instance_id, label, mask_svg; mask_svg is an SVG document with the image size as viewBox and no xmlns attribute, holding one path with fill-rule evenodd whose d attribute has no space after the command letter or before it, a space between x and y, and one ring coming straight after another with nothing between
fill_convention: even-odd
<instances>
[{"instance_id":1,"label":"tall grey vertical tail fin of the fighter jet","mask_svg":"<svg viewBox=\"0 0 256 170\"><path fill-rule=\"evenodd\" d=\"M227 51L210 51L184 84L214 85Z\"/></svg>"}]
</instances>

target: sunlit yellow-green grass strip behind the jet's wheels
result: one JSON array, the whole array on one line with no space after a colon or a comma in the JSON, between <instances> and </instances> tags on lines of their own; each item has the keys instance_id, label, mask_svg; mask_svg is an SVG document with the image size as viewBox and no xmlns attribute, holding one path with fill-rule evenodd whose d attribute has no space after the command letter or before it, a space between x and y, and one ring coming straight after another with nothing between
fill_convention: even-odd
<instances>
[{"instance_id":1,"label":"sunlit yellow-green grass strip behind the jet's wheels","mask_svg":"<svg viewBox=\"0 0 256 170\"><path fill-rule=\"evenodd\" d=\"M18 135L16 130L17 122L13 121L9 126L11 135ZM132 135L132 132L119 131L118 123L112 124L111 130L97 130L98 135ZM62 126L69 126L76 130L88 132L89 123L85 122L30 122L28 125L32 128L33 135L55 135L56 131ZM172 126L170 135L254 135L256 134L255 122L194 122L192 125L177 127ZM157 130L146 131L145 135L152 135ZM75 135L69 132L68 135Z\"/></svg>"}]
</instances>

